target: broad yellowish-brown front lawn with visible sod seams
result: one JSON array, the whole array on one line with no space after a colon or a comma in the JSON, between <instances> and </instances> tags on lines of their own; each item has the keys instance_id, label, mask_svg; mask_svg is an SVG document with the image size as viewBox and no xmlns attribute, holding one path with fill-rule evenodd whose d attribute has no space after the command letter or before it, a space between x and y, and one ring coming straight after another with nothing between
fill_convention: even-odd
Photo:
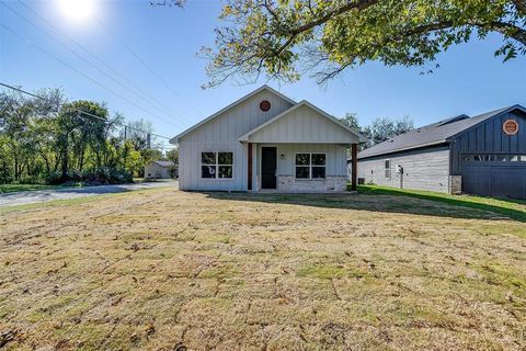
<instances>
[{"instance_id":1,"label":"broad yellowish-brown front lawn with visible sod seams","mask_svg":"<svg viewBox=\"0 0 526 351\"><path fill-rule=\"evenodd\" d=\"M526 225L492 210L366 189L14 208L0 347L524 350Z\"/></svg>"}]
</instances>

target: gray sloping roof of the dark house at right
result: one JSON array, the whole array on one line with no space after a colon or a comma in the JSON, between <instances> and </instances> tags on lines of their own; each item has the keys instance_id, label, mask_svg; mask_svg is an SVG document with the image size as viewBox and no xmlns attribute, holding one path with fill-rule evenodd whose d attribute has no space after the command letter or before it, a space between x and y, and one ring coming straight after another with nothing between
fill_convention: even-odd
<instances>
[{"instance_id":1,"label":"gray sloping roof of the dark house at right","mask_svg":"<svg viewBox=\"0 0 526 351\"><path fill-rule=\"evenodd\" d=\"M420 128L415 128L363 150L358 154L358 159L448 143L458 134L474 127L479 123L515 110L526 113L526 109L524 106L516 104L513 106L490 111L473 117L461 114Z\"/></svg>"}]
</instances>

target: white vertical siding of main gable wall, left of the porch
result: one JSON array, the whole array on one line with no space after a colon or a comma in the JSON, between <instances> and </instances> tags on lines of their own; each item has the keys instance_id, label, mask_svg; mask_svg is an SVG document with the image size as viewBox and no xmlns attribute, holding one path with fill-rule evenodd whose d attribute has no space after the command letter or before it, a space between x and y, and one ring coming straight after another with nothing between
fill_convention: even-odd
<instances>
[{"instance_id":1,"label":"white vertical siding of main gable wall, left of the porch","mask_svg":"<svg viewBox=\"0 0 526 351\"><path fill-rule=\"evenodd\" d=\"M260 109L260 102L263 100L271 103L271 110L267 112ZM290 101L268 90L262 90L183 135L179 140L180 189L245 191L248 146L240 143L239 137L291 106ZM201 177L201 154L206 151L233 152L232 179Z\"/></svg>"}]
</instances>

